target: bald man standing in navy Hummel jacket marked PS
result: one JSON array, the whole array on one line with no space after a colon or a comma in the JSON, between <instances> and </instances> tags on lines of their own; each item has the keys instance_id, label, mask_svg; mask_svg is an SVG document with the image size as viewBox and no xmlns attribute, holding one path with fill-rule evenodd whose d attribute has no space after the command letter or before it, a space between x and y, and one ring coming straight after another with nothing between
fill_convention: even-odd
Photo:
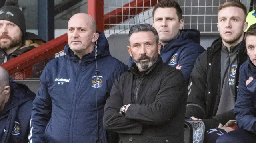
<instances>
[{"instance_id":1,"label":"bald man standing in navy Hummel jacket marked PS","mask_svg":"<svg viewBox=\"0 0 256 143\"><path fill-rule=\"evenodd\" d=\"M79 13L68 22L65 56L50 61L33 102L31 143L108 143L103 110L114 79L127 67L109 53L94 19Z\"/></svg>"}]
</instances>

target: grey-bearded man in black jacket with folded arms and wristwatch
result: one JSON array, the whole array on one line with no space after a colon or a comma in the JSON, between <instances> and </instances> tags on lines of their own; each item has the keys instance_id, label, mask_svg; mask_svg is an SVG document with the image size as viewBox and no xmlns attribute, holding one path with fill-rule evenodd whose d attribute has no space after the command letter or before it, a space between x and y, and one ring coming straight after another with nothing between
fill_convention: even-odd
<instances>
[{"instance_id":1,"label":"grey-bearded man in black jacket with folded arms and wristwatch","mask_svg":"<svg viewBox=\"0 0 256 143\"><path fill-rule=\"evenodd\" d=\"M182 72L159 56L158 33L150 24L129 31L132 67L115 80L104 108L106 130L122 143L184 143L187 86Z\"/></svg>"}]
</instances>

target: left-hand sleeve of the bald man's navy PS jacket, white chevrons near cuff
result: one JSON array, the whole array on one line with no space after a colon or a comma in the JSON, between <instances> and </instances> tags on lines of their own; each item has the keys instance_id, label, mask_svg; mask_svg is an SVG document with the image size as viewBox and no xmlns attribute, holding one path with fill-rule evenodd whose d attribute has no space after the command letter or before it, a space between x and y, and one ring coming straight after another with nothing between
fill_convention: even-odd
<instances>
[{"instance_id":1,"label":"left-hand sleeve of the bald man's navy PS jacket, white chevrons near cuff","mask_svg":"<svg viewBox=\"0 0 256 143\"><path fill-rule=\"evenodd\" d=\"M47 66L40 77L40 85L36 98L33 101L33 108L30 119L30 134L28 139L30 143L46 143L44 131L48 121L51 118L52 103L48 94L46 82Z\"/></svg>"}]
</instances>

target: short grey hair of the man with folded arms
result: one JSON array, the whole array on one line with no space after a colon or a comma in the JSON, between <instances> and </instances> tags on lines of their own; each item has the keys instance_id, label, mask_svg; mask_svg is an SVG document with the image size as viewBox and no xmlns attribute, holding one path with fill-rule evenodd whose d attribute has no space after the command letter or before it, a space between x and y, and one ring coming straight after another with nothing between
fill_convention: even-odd
<instances>
[{"instance_id":1,"label":"short grey hair of the man with folded arms","mask_svg":"<svg viewBox=\"0 0 256 143\"><path fill-rule=\"evenodd\" d=\"M151 26L150 24L136 24L136 25L133 25L130 28L130 31L129 31L129 42L130 42L130 37L133 33L138 33L138 32L142 32L142 31L143 32L151 31L155 36L156 45L158 45L158 43L159 43L158 33L157 33L156 29L153 26Z\"/></svg>"}]
</instances>

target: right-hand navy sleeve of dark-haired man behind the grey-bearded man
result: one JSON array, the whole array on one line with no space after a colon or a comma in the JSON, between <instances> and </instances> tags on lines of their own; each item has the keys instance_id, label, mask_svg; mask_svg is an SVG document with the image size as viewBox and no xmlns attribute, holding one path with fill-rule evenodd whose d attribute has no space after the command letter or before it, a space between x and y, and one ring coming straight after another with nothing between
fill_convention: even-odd
<instances>
[{"instance_id":1,"label":"right-hand navy sleeve of dark-haired man behind the grey-bearded man","mask_svg":"<svg viewBox=\"0 0 256 143\"><path fill-rule=\"evenodd\" d=\"M186 50L182 51L178 64L182 66L181 72L187 81L189 80L196 58L204 51L205 49L199 44L190 44Z\"/></svg>"}]
</instances>

